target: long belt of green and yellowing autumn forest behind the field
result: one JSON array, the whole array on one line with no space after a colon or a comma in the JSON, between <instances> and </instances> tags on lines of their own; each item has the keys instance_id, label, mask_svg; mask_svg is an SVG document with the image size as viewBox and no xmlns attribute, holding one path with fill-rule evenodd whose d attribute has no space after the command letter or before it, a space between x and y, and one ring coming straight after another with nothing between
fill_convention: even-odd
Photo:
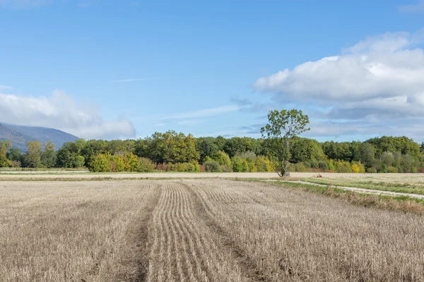
<instances>
[{"instance_id":1,"label":"long belt of green and yellowing autumn forest behind the field","mask_svg":"<svg viewBox=\"0 0 424 282\"><path fill-rule=\"evenodd\" d=\"M268 140L251 137L194 137L175 131L139 140L76 140L56 149L30 141L26 152L0 141L0 167L88 168L94 172L273 171ZM295 137L289 171L340 173L424 173L424 143L408 137L365 142L318 142Z\"/></svg>"}]
</instances>

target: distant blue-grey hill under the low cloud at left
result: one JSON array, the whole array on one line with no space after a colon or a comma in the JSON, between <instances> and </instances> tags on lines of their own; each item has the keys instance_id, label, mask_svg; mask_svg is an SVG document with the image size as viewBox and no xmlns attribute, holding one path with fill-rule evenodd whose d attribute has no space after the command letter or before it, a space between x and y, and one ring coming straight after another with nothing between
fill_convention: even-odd
<instances>
[{"instance_id":1,"label":"distant blue-grey hill under the low cloud at left","mask_svg":"<svg viewBox=\"0 0 424 282\"><path fill-rule=\"evenodd\" d=\"M19 148L20 151L26 150L28 141L38 140L45 144L45 142L50 140L56 145L56 149L59 149L65 142L78 139L76 136L54 128L0 123L0 140L11 140L13 147Z\"/></svg>"}]
</instances>

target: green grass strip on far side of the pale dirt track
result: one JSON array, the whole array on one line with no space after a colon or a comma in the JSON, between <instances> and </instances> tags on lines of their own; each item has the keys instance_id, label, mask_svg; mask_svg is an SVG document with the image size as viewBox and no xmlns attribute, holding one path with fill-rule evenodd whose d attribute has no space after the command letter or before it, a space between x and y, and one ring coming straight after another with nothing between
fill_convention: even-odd
<instances>
[{"instance_id":1,"label":"green grass strip on far side of the pale dirt track","mask_svg":"<svg viewBox=\"0 0 424 282\"><path fill-rule=\"evenodd\" d=\"M353 188L372 189L389 192L401 192L409 194L424 195L424 183L390 183L384 181L360 181L360 180L339 180L322 178L303 178L302 181L333 186L346 186Z\"/></svg>"}]
</instances>

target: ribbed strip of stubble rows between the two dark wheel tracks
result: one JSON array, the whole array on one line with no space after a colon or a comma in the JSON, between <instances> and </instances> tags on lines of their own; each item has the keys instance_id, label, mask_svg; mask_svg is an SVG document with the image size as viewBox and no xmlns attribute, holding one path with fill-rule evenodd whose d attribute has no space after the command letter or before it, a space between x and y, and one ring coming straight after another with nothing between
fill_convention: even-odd
<instances>
[{"instance_id":1,"label":"ribbed strip of stubble rows between the two dark wheel tracks","mask_svg":"<svg viewBox=\"0 0 424 282\"><path fill-rule=\"evenodd\" d=\"M186 185L163 187L151 221L148 281L246 281L220 238L199 218L193 197Z\"/></svg>"}]
</instances>

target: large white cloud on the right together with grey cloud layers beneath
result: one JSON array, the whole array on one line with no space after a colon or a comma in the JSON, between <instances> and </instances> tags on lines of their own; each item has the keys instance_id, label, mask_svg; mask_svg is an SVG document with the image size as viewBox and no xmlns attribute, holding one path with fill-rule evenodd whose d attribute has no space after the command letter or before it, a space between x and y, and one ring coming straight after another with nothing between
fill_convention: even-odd
<instances>
[{"instance_id":1,"label":"large white cloud on the right together with grey cloud layers beneath","mask_svg":"<svg viewBox=\"0 0 424 282\"><path fill-rule=\"evenodd\" d=\"M259 78L254 90L273 94L273 101L281 105L317 109L320 114L312 118L326 120L326 130L316 130L319 135L336 128L346 134L402 132L424 140L424 130L416 128L424 121L422 42L422 31L369 37L338 56ZM373 126L365 130L369 127L364 125ZM405 132L409 127L411 132Z\"/></svg>"}]
</instances>

